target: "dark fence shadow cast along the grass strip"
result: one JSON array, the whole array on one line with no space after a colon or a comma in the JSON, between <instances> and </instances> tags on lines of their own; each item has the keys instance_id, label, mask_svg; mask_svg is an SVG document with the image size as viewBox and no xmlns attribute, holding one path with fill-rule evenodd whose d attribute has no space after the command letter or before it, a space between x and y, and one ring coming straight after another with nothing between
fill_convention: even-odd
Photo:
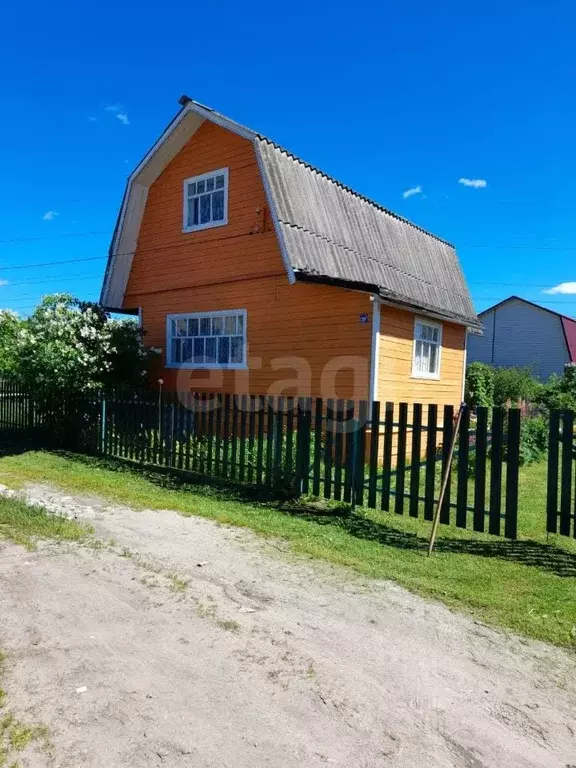
<instances>
[{"instance_id":1,"label":"dark fence shadow cast along the grass strip","mask_svg":"<svg viewBox=\"0 0 576 768\"><path fill-rule=\"evenodd\" d=\"M351 536L373 541L388 547L425 553L427 541L415 533L398 530L386 523L367 519L350 511L346 505L304 505L290 498L288 493L273 489L238 485L216 479L206 479L190 472L178 470L146 469L121 459L108 459L66 451L53 452L69 461L113 472L130 473L144 477L166 490L188 490L207 498L222 501L242 501L276 509L286 515L296 516L321 526L340 528ZM191 480L191 477L193 478ZM507 539L474 540L439 538L436 552L475 555L496 558L529 565L564 578L576 577L576 554L558 549L553 545L532 540L509 541Z\"/></svg>"}]
</instances>

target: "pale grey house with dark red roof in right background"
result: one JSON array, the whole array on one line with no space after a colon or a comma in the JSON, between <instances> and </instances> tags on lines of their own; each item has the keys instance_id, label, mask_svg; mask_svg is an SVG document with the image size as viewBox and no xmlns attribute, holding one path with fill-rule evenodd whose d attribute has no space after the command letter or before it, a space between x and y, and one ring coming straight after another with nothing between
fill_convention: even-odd
<instances>
[{"instance_id":1,"label":"pale grey house with dark red roof in right background","mask_svg":"<svg viewBox=\"0 0 576 768\"><path fill-rule=\"evenodd\" d=\"M468 360L491 365L529 366L542 381L576 362L576 320L519 296L479 315L483 336L470 336Z\"/></svg>"}]
</instances>

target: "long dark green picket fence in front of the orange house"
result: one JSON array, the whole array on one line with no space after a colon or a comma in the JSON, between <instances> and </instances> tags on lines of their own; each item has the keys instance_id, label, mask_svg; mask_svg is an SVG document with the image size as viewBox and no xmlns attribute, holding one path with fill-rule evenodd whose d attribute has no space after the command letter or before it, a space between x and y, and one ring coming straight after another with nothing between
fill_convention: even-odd
<instances>
[{"instance_id":1,"label":"long dark green picket fence in front of the orange house","mask_svg":"<svg viewBox=\"0 0 576 768\"><path fill-rule=\"evenodd\" d=\"M520 412L464 409L457 434L455 416L452 406L248 394L32 398L0 382L0 430L41 447L424 520L448 472L441 523L516 538Z\"/></svg>"}]
</instances>

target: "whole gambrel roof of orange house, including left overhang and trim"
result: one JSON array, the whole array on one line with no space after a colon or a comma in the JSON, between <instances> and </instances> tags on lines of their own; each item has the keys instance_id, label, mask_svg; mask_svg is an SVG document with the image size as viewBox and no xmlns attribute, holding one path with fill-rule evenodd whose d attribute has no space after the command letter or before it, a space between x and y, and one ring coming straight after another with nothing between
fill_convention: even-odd
<instances>
[{"instance_id":1,"label":"whole gambrel roof of orange house, including left overhang and trim","mask_svg":"<svg viewBox=\"0 0 576 768\"><path fill-rule=\"evenodd\" d=\"M291 282L358 288L394 304L479 327L452 245L191 100L184 100L182 110L128 179L102 289L105 306L122 305L150 185L204 120L253 143Z\"/></svg>"}]
</instances>

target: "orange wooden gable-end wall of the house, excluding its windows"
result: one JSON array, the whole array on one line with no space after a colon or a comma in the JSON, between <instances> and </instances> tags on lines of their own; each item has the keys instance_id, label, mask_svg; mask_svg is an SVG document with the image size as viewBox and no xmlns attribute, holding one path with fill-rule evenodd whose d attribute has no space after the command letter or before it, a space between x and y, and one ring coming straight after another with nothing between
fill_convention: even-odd
<instances>
[{"instance_id":1,"label":"orange wooden gable-end wall of the house, excluding its windows","mask_svg":"<svg viewBox=\"0 0 576 768\"><path fill-rule=\"evenodd\" d=\"M183 233L184 179L224 167L228 224ZM290 285L253 147L212 123L150 188L124 306L142 308L146 343L163 349L167 314L247 310L247 372L159 369L168 388L368 397L369 297Z\"/></svg>"}]
</instances>

